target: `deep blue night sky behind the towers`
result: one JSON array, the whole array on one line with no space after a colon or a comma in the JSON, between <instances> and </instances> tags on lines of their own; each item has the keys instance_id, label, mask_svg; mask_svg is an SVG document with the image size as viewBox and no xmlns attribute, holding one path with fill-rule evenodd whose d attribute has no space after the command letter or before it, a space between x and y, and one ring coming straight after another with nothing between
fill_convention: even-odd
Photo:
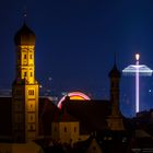
<instances>
[{"instance_id":1,"label":"deep blue night sky behind the towers","mask_svg":"<svg viewBox=\"0 0 153 153\"><path fill-rule=\"evenodd\" d=\"M117 54L122 70L134 63L153 69L152 0L3 0L0 2L0 90L15 78L14 34L26 23L36 34L36 79L42 91L61 97L81 91L109 99L108 72ZM153 79L140 79L141 109L153 108ZM134 78L122 76L121 111L134 111Z\"/></svg>"}]
</instances>

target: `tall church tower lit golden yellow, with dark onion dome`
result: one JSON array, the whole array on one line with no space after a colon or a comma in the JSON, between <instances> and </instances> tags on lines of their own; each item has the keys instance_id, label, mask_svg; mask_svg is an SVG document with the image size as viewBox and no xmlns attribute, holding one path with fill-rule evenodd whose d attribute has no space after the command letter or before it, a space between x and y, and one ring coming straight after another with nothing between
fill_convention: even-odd
<instances>
[{"instance_id":1,"label":"tall church tower lit golden yellow, with dark onion dome","mask_svg":"<svg viewBox=\"0 0 153 153\"><path fill-rule=\"evenodd\" d=\"M13 141L24 143L38 136L38 93L35 80L35 34L24 23L14 36L16 75L12 84Z\"/></svg>"}]
</instances>

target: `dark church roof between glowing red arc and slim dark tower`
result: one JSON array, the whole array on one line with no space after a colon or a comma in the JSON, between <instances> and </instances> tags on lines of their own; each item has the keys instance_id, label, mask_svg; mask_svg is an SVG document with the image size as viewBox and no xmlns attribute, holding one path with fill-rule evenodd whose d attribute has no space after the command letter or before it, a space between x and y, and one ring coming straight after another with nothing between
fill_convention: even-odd
<instances>
[{"instance_id":1,"label":"dark church roof between glowing red arc and slim dark tower","mask_svg":"<svg viewBox=\"0 0 153 153\"><path fill-rule=\"evenodd\" d=\"M63 107L68 114L78 118L81 125L81 132L86 130L104 130L107 128L107 117L110 115L109 101L67 101ZM85 127L85 128L84 128Z\"/></svg>"}]
</instances>

